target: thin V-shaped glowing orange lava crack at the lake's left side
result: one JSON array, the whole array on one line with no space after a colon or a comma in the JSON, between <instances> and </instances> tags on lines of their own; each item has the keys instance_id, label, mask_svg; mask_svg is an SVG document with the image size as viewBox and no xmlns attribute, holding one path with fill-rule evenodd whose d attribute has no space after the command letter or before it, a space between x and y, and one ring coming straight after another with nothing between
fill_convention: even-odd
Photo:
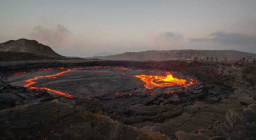
<instances>
[{"instance_id":1,"label":"thin V-shaped glowing orange lava crack at the lake's left side","mask_svg":"<svg viewBox=\"0 0 256 140\"><path fill-rule=\"evenodd\" d=\"M59 69L64 69L64 68L61 67ZM63 96L65 96L67 98L70 98L70 99L76 99L76 98L72 97L71 95L60 92L60 91L52 90L52 89L47 88L47 87L32 87L31 85L37 83L37 82L35 82L35 80L39 80L40 78L57 78L56 76L61 75L61 74L66 73L66 72L70 72L70 71L90 71L90 70L77 70L77 69L82 69L82 68L68 69L66 71L62 71L62 72L59 72L59 73L53 74L53 75L37 76L37 77L34 77L33 79L26 80L25 82L27 82L27 84L25 84L23 86L24 87L29 87L29 89L39 89L39 90L45 89L47 91L54 92L54 93L57 93L59 95L63 95ZM50 70L50 69L43 69L43 70ZM106 72L106 71L91 71L91 72Z\"/></svg>"}]
</instances>

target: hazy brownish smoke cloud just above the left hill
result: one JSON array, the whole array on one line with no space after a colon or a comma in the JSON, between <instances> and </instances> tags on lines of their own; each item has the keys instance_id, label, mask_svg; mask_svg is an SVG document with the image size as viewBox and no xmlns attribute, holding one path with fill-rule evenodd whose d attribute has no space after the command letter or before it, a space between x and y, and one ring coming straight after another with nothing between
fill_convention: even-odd
<instances>
[{"instance_id":1,"label":"hazy brownish smoke cloud just above the left hill","mask_svg":"<svg viewBox=\"0 0 256 140\"><path fill-rule=\"evenodd\" d=\"M50 29L40 25L35 26L28 35L29 38L43 42L50 46L61 46L68 40L71 32L62 24L58 24L56 28Z\"/></svg>"}]
</instances>

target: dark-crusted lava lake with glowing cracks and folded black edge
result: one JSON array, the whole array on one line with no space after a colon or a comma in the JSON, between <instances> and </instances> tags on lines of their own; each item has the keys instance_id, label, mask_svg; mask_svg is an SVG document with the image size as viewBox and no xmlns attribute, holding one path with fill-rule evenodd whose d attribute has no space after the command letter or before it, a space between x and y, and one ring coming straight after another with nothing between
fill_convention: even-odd
<instances>
[{"instance_id":1,"label":"dark-crusted lava lake with glowing cracks and folded black edge","mask_svg":"<svg viewBox=\"0 0 256 140\"><path fill-rule=\"evenodd\" d=\"M100 99L102 104L114 107L114 111L108 111L107 115L125 124L146 120L163 122L166 118L178 115L183 106L190 105L193 101L214 103L227 98L231 93L224 86L197 80L192 74L123 66L35 69L13 73L6 77L5 82L12 86L23 86L29 90L47 91L51 95L63 96L65 98L62 97L61 100L73 104L75 99L81 97ZM162 113L161 117L143 119L140 118L140 113L134 113L135 110L122 114L122 117L113 113L128 106L133 106L134 109L142 106L168 106L175 111Z\"/></svg>"}]
</instances>

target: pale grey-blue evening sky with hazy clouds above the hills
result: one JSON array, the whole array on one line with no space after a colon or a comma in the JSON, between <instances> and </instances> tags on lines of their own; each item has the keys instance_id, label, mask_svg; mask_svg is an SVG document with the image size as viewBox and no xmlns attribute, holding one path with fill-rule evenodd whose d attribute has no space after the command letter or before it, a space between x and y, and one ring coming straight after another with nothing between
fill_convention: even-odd
<instances>
[{"instance_id":1,"label":"pale grey-blue evening sky with hazy clouds above the hills","mask_svg":"<svg viewBox=\"0 0 256 140\"><path fill-rule=\"evenodd\" d=\"M255 0L0 0L0 42L25 38L64 56L146 50L256 53Z\"/></svg>"}]
</instances>

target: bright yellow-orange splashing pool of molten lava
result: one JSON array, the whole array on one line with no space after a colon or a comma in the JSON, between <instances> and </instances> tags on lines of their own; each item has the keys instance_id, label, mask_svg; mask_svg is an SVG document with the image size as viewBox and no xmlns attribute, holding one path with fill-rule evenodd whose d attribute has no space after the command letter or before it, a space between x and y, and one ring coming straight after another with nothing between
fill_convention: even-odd
<instances>
[{"instance_id":1,"label":"bright yellow-orange splashing pool of molten lava","mask_svg":"<svg viewBox=\"0 0 256 140\"><path fill-rule=\"evenodd\" d=\"M184 87L187 87L188 85L195 84L196 82L191 79L189 84L185 84L187 81L185 79L178 79L174 78L172 74L169 72L166 73L166 76L158 76L158 75L133 75L137 78L140 78L143 82L146 84L144 85L146 88L151 89L154 87L159 87L159 86L172 86L174 84L178 85L184 85ZM154 81L161 81L163 83L155 83Z\"/></svg>"}]
</instances>

